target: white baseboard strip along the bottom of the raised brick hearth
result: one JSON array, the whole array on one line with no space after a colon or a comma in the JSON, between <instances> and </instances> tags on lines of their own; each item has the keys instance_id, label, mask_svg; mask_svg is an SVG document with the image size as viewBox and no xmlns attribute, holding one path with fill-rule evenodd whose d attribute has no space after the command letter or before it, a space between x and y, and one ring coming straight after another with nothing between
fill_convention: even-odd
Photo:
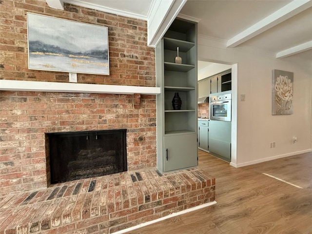
<instances>
[{"instance_id":1,"label":"white baseboard strip along the bottom of the raised brick hearth","mask_svg":"<svg viewBox=\"0 0 312 234\"><path fill-rule=\"evenodd\" d=\"M122 233L126 233L126 232L129 232L129 231L133 231L135 229L148 226L150 224L153 224L153 223L165 220L167 218L175 217L177 215L183 215L183 214L186 214L186 213L189 213L189 212L192 212L192 211L196 211L196 210L199 210L199 209L202 209L202 208L205 208L205 207L208 207L208 206L212 206L212 205L215 205L215 204L216 204L216 201L205 203L205 204L202 204L202 205L199 205L199 206L195 206L195 207L190 208L190 209L186 209L184 211L180 211L180 212L177 212L177 213L173 213L171 215L167 215L167 216L164 216L164 217L161 217L161 218L157 218L157 219L152 220L152 221L148 221L146 223L141 223L141 224L138 224L137 226L126 228L126 229L120 230L120 231L118 231L116 233L112 233L112 234L122 234Z\"/></svg>"}]
</instances>

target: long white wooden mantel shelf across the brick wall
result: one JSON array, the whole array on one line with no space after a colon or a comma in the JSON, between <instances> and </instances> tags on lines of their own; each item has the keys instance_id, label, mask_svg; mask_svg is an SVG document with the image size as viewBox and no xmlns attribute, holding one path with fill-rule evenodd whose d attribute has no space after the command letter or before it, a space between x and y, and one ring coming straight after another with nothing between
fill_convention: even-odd
<instances>
[{"instance_id":1,"label":"long white wooden mantel shelf across the brick wall","mask_svg":"<svg viewBox=\"0 0 312 234\"><path fill-rule=\"evenodd\" d=\"M94 94L160 94L160 87L0 80L0 90Z\"/></svg>"}]
</instances>

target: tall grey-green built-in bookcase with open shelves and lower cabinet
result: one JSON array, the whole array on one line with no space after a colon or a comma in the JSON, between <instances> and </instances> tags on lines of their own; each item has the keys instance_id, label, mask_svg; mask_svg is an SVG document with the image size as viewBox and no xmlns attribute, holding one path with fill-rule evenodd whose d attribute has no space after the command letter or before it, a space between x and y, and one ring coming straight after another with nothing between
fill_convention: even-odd
<instances>
[{"instance_id":1,"label":"tall grey-green built-in bookcase with open shelves and lower cabinet","mask_svg":"<svg viewBox=\"0 0 312 234\"><path fill-rule=\"evenodd\" d=\"M179 47L182 63L175 63ZM197 23L175 19L156 46L157 168L169 172L197 166ZM174 110L172 99L182 104Z\"/></svg>"}]
</instances>

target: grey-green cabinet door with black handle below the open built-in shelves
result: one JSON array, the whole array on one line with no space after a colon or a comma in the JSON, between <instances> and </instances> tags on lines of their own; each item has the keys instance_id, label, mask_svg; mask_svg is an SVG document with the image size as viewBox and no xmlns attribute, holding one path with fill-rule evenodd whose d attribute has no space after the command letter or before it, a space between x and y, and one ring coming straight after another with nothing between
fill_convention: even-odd
<instances>
[{"instance_id":1,"label":"grey-green cabinet door with black handle below the open built-in shelves","mask_svg":"<svg viewBox=\"0 0 312 234\"><path fill-rule=\"evenodd\" d=\"M165 136L164 171L174 171L197 166L197 135Z\"/></svg>"}]
</instances>

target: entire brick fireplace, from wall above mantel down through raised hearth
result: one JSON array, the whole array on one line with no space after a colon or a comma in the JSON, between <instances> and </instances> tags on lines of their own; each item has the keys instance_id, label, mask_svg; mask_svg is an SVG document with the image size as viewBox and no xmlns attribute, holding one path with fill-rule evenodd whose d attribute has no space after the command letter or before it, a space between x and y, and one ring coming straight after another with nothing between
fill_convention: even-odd
<instances>
[{"instance_id":1,"label":"entire brick fireplace, from wall above mantel down through raised hearth","mask_svg":"<svg viewBox=\"0 0 312 234\"><path fill-rule=\"evenodd\" d=\"M110 75L78 83L155 87L144 20L44 0L0 1L1 80L68 83L28 70L26 13L109 28ZM46 135L126 129L127 172L51 184ZM0 91L0 234L113 233L215 200L215 179L195 168L156 170L156 95Z\"/></svg>"}]
</instances>

